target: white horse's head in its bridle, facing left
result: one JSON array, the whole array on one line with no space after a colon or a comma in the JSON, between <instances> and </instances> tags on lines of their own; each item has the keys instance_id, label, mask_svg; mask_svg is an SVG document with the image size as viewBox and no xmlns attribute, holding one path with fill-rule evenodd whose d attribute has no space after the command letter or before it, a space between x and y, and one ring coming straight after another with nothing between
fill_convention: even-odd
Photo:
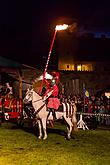
<instances>
[{"instance_id":1,"label":"white horse's head in its bridle, facing left","mask_svg":"<svg viewBox=\"0 0 110 165\"><path fill-rule=\"evenodd\" d=\"M32 101L32 94L33 94L33 89L28 89L23 99L24 104L27 104L30 101Z\"/></svg>"}]
</instances>

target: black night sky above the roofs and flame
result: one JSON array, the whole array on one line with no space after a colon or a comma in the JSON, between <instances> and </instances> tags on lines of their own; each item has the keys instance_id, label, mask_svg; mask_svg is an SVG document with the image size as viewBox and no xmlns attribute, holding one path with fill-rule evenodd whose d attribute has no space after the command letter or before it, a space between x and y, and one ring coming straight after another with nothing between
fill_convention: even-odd
<instances>
[{"instance_id":1,"label":"black night sky above the roofs and flame","mask_svg":"<svg viewBox=\"0 0 110 165\"><path fill-rule=\"evenodd\" d=\"M109 30L109 6L109 0L4 0L0 4L0 55L37 65L48 55L60 19Z\"/></svg>"}]
</instances>

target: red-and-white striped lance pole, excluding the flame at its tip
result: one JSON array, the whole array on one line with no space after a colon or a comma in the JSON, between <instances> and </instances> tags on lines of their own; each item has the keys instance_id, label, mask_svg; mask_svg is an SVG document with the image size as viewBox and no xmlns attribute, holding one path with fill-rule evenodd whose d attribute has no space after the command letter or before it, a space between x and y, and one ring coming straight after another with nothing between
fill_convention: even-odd
<instances>
[{"instance_id":1,"label":"red-and-white striped lance pole, excluding the flame at its tip","mask_svg":"<svg viewBox=\"0 0 110 165\"><path fill-rule=\"evenodd\" d=\"M52 42L51 42L51 46L50 46L50 50L49 50L49 54L48 54L48 58L47 58L47 62L46 62L46 66L45 66L44 73L43 73L43 79L42 79L42 82L41 82L41 85L40 85L39 94L41 94L41 91L42 91L42 87L43 87L46 71L47 71L47 68L48 68L48 64L49 64L49 61L50 61L50 55L52 53L52 48L53 48L53 44L54 44L54 41L55 41L56 33L57 33L57 30L55 29L53 39L52 39Z\"/></svg>"}]
</instances>

